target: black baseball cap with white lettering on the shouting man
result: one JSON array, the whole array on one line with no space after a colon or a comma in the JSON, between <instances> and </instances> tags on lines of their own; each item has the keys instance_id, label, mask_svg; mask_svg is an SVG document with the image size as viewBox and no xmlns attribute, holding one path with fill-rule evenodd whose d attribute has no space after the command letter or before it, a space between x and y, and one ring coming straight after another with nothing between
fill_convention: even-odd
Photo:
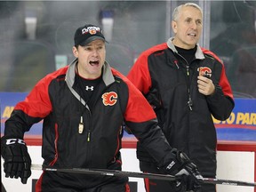
<instances>
[{"instance_id":1,"label":"black baseball cap with white lettering on the shouting man","mask_svg":"<svg viewBox=\"0 0 256 192\"><path fill-rule=\"evenodd\" d=\"M76 45L84 46L92 41L100 39L104 42L105 36L102 34L102 29L96 25L86 24L83 27L77 28L74 36L74 42Z\"/></svg>"}]
</instances>

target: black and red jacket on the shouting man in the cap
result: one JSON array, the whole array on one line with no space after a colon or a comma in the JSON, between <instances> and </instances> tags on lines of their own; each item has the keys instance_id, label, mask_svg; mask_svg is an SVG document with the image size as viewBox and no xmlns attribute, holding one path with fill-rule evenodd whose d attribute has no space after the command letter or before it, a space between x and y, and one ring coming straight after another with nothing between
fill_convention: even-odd
<instances>
[{"instance_id":1,"label":"black and red jacket on the shouting man in the cap","mask_svg":"<svg viewBox=\"0 0 256 192\"><path fill-rule=\"evenodd\" d=\"M93 92L94 101L89 108L76 92L76 61L45 76L16 105L5 123L4 137L23 139L33 124L44 120L44 164L57 168L121 170L125 122L160 166L170 164L171 148L157 126L154 110L141 92L105 63L102 81L98 92ZM84 130L79 133L81 116Z\"/></svg>"}]
</instances>

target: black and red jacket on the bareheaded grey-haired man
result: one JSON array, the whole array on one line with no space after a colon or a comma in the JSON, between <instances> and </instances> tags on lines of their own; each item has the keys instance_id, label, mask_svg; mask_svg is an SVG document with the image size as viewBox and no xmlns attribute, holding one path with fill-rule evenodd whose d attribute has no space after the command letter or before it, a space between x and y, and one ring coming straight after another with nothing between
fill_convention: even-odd
<instances>
[{"instance_id":1,"label":"black and red jacket on the bareheaded grey-haired man","mask_svg":"<svg viewBox=\"0 0 256 192\"><path fill-rule=\"evenodd\" d=\"M215 84L211 96L198 92L199 68ZM215 176L217 137L212 116L226 120L234 108L220 59L197 44L195 59L188 64L170 38L167 43L142 52L128 78L156 107L159 125L171 147L187 153L203 175ZM192 110L188 106L189 96ZM148 161L140 143L137 155L141 161Z\"/></svg>"}]
</instances>

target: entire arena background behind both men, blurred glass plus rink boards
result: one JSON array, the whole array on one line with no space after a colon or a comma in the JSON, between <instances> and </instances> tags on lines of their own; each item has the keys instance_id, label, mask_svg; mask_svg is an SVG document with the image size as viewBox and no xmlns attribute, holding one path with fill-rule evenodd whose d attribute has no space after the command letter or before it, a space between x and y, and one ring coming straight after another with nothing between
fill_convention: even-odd
<instances>
[{"instance_id":1,"label":"entire arena background behind both men, blurred glass plus rink boards","mask_svg":"<svg viewBox=\"0 0 256 192\"><path fill-rule=\"evenodd\" d=\"M108 40L107 60L127 75L140 52L172 36L174 7L187 1L1 1L0 108L4 122L15 104L24 100L36 82L68 65L73 36L84 23L100 25ZM217 177L256 180L256 1L189 1L204 9L199 44L215 52L225 65L236 107L227 121L215 122L218 133ZM26 133L33 164L42 164L42 122ZM139 172L136 140L124 133L125 171ZM41 172L27 185L4 178L2 191L34 191ZM132 191L142 192L142 180L130 179ZM218 192L256 192L254 188L218 186Z\"/></svg>"}]
</instances>

